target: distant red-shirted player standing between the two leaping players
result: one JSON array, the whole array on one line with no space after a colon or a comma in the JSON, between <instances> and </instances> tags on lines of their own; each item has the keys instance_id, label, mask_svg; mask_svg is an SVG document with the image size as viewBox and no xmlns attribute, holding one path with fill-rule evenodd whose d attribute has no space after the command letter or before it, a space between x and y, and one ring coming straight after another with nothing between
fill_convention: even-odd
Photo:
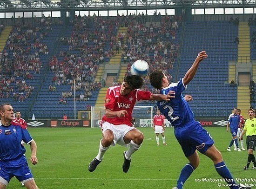
<instances>
[{"instance_id":1,"label":"distant red-shirted player standing between the two leaping players","mask_svg":"<svg viewBox=\"0 0 256 189\"><path fill-rule=\"evenodd\" d=\"M160 110L156 111L156 115L153 117L153 130L156 134L156 145L159 146L159 133L162 135L162 143L163 145L167 146L167 143L165 143L165 137L164 137L164 116L160 114Z\"/></svg>"}]
</instances>

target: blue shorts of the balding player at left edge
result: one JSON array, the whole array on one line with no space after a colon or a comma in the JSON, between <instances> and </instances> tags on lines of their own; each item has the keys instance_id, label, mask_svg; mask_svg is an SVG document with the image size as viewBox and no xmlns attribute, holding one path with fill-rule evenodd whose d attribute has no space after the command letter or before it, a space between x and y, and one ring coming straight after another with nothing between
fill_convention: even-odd
<instances>
[{"instance_id":1,"label":"blue shorts of the balding player at left edge","mask_svg":"<svg viewBox=\"0 0 256 189\"><path fill-rule=\"evenodd\" d=\"M33 179L25 156L11 161L0 161L0 182L7 185L13 176L19 181Z\"/></svg>"}]
</instances>

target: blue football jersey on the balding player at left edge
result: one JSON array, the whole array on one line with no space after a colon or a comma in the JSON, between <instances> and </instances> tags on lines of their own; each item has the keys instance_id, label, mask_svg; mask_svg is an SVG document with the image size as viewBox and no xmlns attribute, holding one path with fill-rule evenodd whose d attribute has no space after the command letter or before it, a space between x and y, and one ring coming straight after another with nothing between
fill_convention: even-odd
<instances>
[{"instance_id":1,"label":"blue football jersey on the balding player at left edge","mask_svg":"<svg viewBox=\"0 0 256 189\"><path fill-rule=\"evenodd\" d=\"M27 129L22 129L19 125L0 125L0 160L13 160L25 153L25 148L20 144L33 139Z\"/></svg>"}]
</instances>

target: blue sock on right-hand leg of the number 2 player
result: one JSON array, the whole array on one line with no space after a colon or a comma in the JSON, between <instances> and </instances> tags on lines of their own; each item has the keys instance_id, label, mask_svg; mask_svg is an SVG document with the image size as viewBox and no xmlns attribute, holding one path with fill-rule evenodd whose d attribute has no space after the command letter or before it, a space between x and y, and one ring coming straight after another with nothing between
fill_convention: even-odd
<instances>
[{"instance_id":1,"label":"blue sock on right-hand leg of the number 2 player","mask_svg":"<svg viewBox=\"0 0 256 189\"><path fill-rule=\"evenodd\" d=\"M239 188L238 186L236 186L236 182L224 162L217 163L214 165L214 167L215 167L217 173L220 176L222 176L222 178L227 179L227 183L233 185L233 187L231 186L230 189L238 189Z\"/></svg>"}]
</instances>

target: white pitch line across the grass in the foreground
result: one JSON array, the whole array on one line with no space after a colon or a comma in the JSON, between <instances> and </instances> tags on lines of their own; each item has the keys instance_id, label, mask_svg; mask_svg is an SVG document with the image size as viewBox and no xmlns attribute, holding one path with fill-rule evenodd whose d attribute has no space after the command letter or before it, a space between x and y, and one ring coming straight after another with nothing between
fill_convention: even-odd
<instances>
[{"instance_id":1,"label":"white pitch line across the grass in the foreground","mask_svg":"<svg viewBox=\"0 0 256 189\"><path fill-rule=\"evenodd\" d=\"M35 179L58 179L58 180L110 180L110 181L176 181L177 179L163 179L163 178L40 178L34 177Z\"/></svg>"}]
</instances>

